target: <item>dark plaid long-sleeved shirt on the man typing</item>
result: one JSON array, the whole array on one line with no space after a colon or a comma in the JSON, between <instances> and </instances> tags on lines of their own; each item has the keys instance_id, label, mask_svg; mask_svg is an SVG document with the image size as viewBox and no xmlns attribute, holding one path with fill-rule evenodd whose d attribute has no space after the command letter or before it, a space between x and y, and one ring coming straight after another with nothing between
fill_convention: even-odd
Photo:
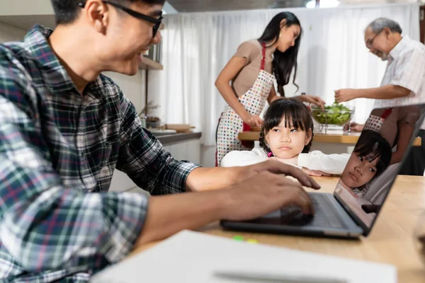
<instances>
[{"instance_id":1,"label":"dark plaid long-sleeved shirt on the man typing","mask_svg":"<svg viewBox=\"0 0 425 283\"><path fill-rule=\"evenodd\" d=\"M115 168L165 195L197 167L164 151L108 77L81 96L51 33L35 25L0 45L2 282L88 281L129 253L145 221L145 195L108 192Z\"/></svg>"}]
</instances>

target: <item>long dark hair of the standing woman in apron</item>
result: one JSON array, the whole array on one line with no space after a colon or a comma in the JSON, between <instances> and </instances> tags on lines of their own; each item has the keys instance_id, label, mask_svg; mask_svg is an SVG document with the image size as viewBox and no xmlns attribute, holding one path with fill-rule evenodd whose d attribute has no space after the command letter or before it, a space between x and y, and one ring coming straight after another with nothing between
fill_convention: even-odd
<instances>
[{"instance_id":1,"label":"long dark hair of the standing woman in apron","mask_svg":"<svg viewBox=\"0 0 425 283\"><path fill-rule=\"evenodd\" d=\"M300 26L300 35L298 35L295 40L295 45L290 47L285 52L280 52L276 49L273 54L273 74L276 77L276 81L278 83L278 93L280 96L285 96L283 92L283 86L286 86L289 83L290 74L294 69L294 77L293 83L295 86L298 85L295 83L295 79L297 77L297 56L298 50L300 50L300 42L302 35L302 28L300 25L300 21L298 18L290 12L281 12L274 16L270 23L268 23L266 30L264 30L263 35L258 39L260 43L267 44L269 42L270 46L274 45L280 35L280 28L283 26L280 25L280 21L283 19L286 20L286 26L289 28L291 25L299 25Z\"/></svg>"}]
</instances>

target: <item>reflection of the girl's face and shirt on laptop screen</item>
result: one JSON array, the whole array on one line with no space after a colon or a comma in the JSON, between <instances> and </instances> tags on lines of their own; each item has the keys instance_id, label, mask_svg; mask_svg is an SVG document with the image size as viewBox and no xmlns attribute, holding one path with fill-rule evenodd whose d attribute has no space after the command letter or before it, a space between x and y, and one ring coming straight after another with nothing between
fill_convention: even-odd
<instances>
[{"instance_id":1,"label":"reflection of the girl's face and shirt on laptop screen","mask_svg":"<svg viewBox=\"0 0 425 283\"><path fill-rule=\"evenodd\" d=\"M370 202L363 200L356 192L361 192L365 185L378 177L390 165L391 146L382 135L365 129L358 138L356 147L336 187L338 194L361 220L369 225L375 213L367 213L362 205Z\"/></svg>"}]
</instances>

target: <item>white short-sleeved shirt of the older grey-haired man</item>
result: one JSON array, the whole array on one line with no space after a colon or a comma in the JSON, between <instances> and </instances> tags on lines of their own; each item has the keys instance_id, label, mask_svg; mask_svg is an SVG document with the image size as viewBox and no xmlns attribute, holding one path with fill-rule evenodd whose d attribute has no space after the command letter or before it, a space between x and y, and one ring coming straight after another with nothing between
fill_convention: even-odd
<instances>
[{"instance_id":1,"label":"white short-sleeved shirt of the older grey-haired man","mask_svg":"<svg viewBox=\"0 0 425 283\"><path fill-rule=\"evenodd\" d=\"M388 56L381 86L387 85L407 88L409 96L376 99L374 108L425 103L425 45L408 36L402 37ZM425 129L425 122L421 129Z\"/></svg>"}]
</instances>

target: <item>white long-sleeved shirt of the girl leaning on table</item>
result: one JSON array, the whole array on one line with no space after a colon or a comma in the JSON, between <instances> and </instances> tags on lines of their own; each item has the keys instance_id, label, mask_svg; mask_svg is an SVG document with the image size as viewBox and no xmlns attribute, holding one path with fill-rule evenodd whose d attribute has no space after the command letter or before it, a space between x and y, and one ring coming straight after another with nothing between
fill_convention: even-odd
<instances>
[{"instance_id":1,"label":"white long-sleeved shirt of the girl leaning on table","mask_svg":"<svg viewBox=\"0 0 425 283\"><path fill-rule=\"evenodd\" d=\"M328 174L341 175L350 158L350 154L324 154L322 151L311 151L308 154L299 154L298 168L322 171ZM256 147L251 151L230 151L222 158L220 166L248 166L268 159L264 149Z\"/></svg>"}]
</instances>

